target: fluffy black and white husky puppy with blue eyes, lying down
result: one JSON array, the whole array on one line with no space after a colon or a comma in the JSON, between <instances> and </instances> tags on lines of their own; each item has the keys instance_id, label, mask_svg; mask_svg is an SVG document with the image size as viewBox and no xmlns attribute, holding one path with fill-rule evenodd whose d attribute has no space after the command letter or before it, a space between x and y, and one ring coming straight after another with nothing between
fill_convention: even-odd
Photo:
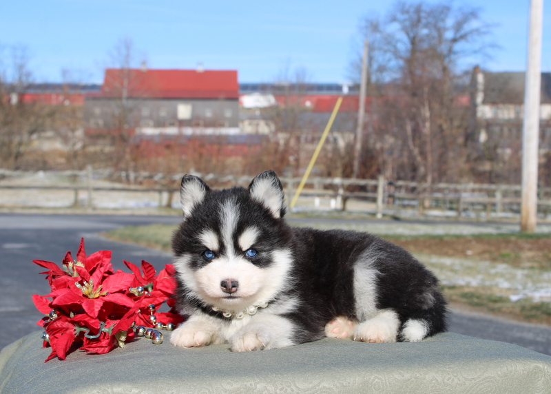
<instances>
[{"instance_id":1,"label":"fluffy black and white husky puppy with blue eyes, lying down","mask_svg":"<svg viewBox=\"0 0 551 394\"><path fill-rule=\"evenodd\" d=\"M182 179L172 240L177 307L189 318L170 342L278 349L332 338L419 341L446 330L437 278L371 234L292 228L273 171L249 189Z\"/></svg>"}]
</instances>

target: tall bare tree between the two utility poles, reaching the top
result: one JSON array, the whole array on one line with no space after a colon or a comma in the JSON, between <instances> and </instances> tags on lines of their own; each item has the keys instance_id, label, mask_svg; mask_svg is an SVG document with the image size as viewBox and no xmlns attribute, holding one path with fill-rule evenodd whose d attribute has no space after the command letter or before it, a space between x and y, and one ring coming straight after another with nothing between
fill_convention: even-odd
<instances>
[{"instance_id":1,"label":"tall bare tree between the two utility poles, reaching the top","mask_svg":"<svg viewBox=\"0 0 551 394\"><path fill-rule=\"evenodd\" d=\"M389 130L373 121L378 129L371 141L381 141L389 131L405 141L384 152L408 158L401 165L413 169L410 178L430 184L458 180L466 171L461 160L468 109L457 105L457 96L467 93L461 91L466 61L492 48L490 29L479 10L450 3L399 1L383 19L364 19L363 34L373 48L370 74L379 87L371 92L380 96L373 118L392 113L393 123Z\"/></svg>"}]
</instances>

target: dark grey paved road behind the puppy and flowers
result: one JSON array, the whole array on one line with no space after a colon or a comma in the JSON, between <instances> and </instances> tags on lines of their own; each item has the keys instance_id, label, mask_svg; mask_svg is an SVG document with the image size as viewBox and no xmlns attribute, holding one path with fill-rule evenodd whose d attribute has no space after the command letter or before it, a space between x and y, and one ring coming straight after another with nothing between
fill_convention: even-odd
<instances>
[{"instance_id":1,"label":"dark grey paved road behind the puppy and flowers","mask_svg":"<svg viewBox=\"0 0 551 394\"><path fill-rule=\"evenodd\" d=\"M123 259L151 262L157 269L171 261L169 253L113 242L100 233L124 225L177 223L170 216L87 216L0 214L0 349L23 335L40 329L42 317L32 294L46 294L48 283L32 260L61 263L66 251L76 254L81 237L86 251L109 249L112 263L125 269ZM301 220L304 221L304 220ZM521 324L487 315L453 311L450 331L488 340L500 340L551 355L551 327Z\"/></svg>"}]
</instances>

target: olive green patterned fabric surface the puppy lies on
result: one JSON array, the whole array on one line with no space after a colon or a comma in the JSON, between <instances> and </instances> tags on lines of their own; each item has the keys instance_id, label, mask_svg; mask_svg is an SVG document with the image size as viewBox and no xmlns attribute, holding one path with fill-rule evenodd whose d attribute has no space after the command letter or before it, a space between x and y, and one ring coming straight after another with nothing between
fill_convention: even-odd
<instances>
[{"instance_id":1,"label":"olive green patterned fabric surface the puppy lies on","mask_svg":"<svg viewBox=\"0 0 551 394\"><path fill-rule=\"evenodd\" d=\"M141 338L105 355L75 351L46 363L40 336L0 353L1 393L551 393L550 356L453 333L393 344L326 338L247 353Z\"/></svg>"}]
</instances>

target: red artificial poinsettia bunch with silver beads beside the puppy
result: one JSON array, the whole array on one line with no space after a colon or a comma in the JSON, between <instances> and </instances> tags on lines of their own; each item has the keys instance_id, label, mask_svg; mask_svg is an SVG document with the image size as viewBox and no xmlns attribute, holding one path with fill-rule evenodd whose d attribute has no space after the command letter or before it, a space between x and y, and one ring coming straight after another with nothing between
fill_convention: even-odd
<instances>
[{"instance_id":1,"label":"red artificial poinsettia bunch with silver beads beside the puppy","mask_svg":"<svg viewBox=\"0 0 551 394\"><path fill-rule=\"evenodd\" d=\"M44 313L38 324L47 335L44 346L52 347L46 361L54 357L65 360L73 344L90 353L107 353L134 337L132 326L152 326L155 314L163 324L177 324L183 318L174 313L157 312L167 302L174 307L171 295L176 282L174 267L166 265L158 274L149 262L142 261L143 273L131 262L125 264L132 273L113 271L111 251L97 251L87 256L81 239L76 260L65 254L61 267L54 262L33 260L48 269L42 273L52 291L32 296L34 305ZM136 287L143 287L136 293Z\"/></svg>"}]
</instances>

